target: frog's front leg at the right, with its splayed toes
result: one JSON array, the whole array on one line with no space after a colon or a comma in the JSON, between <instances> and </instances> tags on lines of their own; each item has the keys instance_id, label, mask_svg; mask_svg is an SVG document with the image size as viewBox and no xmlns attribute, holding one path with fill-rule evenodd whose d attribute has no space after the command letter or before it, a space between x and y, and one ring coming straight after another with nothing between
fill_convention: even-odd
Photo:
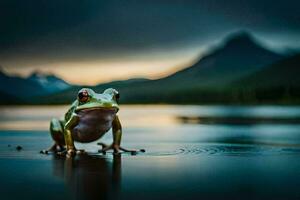
<instances>
[{"instance_id":1,"label":"frog's front leg at the right, with its splayed toes","mask_svg":"<svg viewBox=\"0 0 300 200\"><path fill-rule=\"evenodd\" d=\"M99 152L105 153L108 150L113 150L114 153L119 153L120 151L131 152L132 154L136 154L138 151L133 149L125 149L121 147L121 139L122 139L122 126L119 120L119 117L116 115L115 119L112 122L112 132L113 132L113 143L111 145L106 145L104 143L98 143L102 146L102 149ZM144 152L145 150L140 150Z\"/></svg>"}]
</instances>

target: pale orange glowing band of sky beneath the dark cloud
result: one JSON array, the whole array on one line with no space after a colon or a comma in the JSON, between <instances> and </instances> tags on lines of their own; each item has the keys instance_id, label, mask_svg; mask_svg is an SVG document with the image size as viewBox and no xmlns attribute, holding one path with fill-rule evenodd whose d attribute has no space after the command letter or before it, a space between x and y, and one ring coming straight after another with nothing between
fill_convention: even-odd
<instances>
[{"instance_id":1,"label":"pale orange glowing band of sky beneath the dark cloud","mask_svg":"<svg viewBox=\"0 0 300 200\"><path fill-rule=\"evenodd\" d=\"M201 55L202 50L192 49L173 54L161 52L159 56L124 57L107 60L57 61L45 64L27 64L19 67L4 65L8 74L27 77L34 71L53 73L65 81L79 85L96 85L113 80L130 78L156 79L189 67ZM203 52L202 52L203 53ZM164 56L165 55L165 56ZM8 66L8 67L7 67Z\"/></svg>"}]
</instances>

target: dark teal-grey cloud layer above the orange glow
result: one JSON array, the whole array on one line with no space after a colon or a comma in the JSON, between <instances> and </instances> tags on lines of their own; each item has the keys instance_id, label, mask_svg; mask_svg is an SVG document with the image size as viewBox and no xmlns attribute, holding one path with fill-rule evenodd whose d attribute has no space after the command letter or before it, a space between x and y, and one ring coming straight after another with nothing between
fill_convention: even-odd
<instances>
[{"instance_id":1,"label":"dark teal-grey cloud layer above the orange glow","mask_svg":"<svg viewBox=\"0 0 300 200\"><path fill-rule=\"evenodd\" d=\"M0 59L9 64L159 49L167 54L208 44L234 29L288 38L300 33L299 8L296 0L2 0Z\"/></svg>"}]
</instances>

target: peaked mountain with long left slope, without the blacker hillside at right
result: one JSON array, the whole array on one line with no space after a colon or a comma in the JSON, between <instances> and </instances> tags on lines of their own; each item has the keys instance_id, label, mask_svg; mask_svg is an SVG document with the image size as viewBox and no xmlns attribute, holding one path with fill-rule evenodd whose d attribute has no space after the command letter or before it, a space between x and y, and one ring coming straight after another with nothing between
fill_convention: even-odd
<instances>
[{"instance_id":1,"label":"peaked mountain with long left slope, without the blacker hillside at right","mask_svg":"<svg viewBox=\"0 0 300 200\"><path fill-rule=\"evenodd\" d=\"M120 91L124 103L200 103L231 101L228 86L262 70L285 56L263 47L250 33L240 31L211 48L195 64L157 80L114 81L92 87ZM69 103L79 87L43 98L48 103ZM234 97L235 98L235 97Z\"/></svg>"}]
</instances>

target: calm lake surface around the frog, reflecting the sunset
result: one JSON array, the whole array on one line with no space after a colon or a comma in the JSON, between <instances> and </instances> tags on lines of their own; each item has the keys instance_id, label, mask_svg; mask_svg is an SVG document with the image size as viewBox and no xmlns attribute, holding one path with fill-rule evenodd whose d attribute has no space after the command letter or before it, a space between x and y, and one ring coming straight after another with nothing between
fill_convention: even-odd
<instances>
[{"instance_id":1,"label":"calm lake surface around the frog, reflecting the sunset","mask_svg":"<svg viewBox=\"0 0 300 200\"><path fill-rule=\"evenodd\" d=\"M122 144L145 153L40 154L67 108L0 108L1 199L300 199L300 106L124 105Z\"/></svg>"}]
</instances>

